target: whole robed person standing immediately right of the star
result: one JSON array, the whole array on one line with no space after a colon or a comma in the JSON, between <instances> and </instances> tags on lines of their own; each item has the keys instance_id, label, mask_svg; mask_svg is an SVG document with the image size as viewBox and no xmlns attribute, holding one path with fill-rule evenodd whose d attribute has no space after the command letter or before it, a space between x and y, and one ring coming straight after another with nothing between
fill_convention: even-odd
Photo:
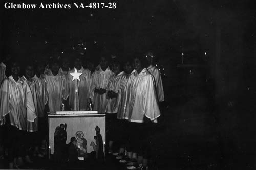
<instances>
[{"instance_id":1,"label":"whole robed person standing immediately right of the star","mask_svg":"<svg viewBox=\"0 0 256 170\"><path fill-rule=\"evenodd\" d=\"M108 86L110 77L114 73L108 66L106 57L100 58L100 63L93 73L91 85L91 95L93 96L94 110L98 113L105 113L106 108L106 87Z\"/></svg>"}]
</instances>

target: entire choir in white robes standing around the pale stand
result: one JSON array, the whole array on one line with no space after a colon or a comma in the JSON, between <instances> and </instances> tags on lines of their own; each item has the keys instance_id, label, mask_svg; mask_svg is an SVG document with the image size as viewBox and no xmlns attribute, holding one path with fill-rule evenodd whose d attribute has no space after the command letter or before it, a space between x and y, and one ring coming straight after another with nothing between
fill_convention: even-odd
<instances>
[{"instance_id":1,"label":"entire choir in white robes standing around the pale stand","mask_svg":"<svg viewBox=\"0 0 256 170\"><path fill-rule=\"evenodd\" d=\"M64 110L106 113L109 152L113 141L118 141L127 150L146 153L146 141L141 141L150 133L151 124L157 123L159 102L164 101L154 57L148 52L120 62L102 55L96 67L93 60L74 57L72 69L71 58L51 59L48 64L31 62L24 68L16 60L1 62L0 148L2 153L3 148L8 151L10 168L23 160L32 162L31 147L34 155L42 156L39 146L48 135L47 113ZM75 71L81 74L80 80L73 80Z\"/></svg>"}]
</instances>

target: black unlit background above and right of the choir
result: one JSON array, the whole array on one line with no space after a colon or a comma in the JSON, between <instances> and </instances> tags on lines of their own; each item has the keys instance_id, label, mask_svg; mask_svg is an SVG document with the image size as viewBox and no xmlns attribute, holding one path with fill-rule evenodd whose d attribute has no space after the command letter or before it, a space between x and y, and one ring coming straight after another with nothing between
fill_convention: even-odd
<instances>
[{"instance_id":1,"label":"black unlit background above and right of the choir","mask_svg":"<svg viewBox=\"0 0 256 170\"><path fill-rule=\"evenodd\" d=\"M4 9L1 2L2 58L24 64L73 52L96 59L104 51L120 58L154 51L165 92L160 133L152 136L159 167L166 160L184 169L255 167L254 1L116 1L116 9L34 10ZM51 2L57 3L43 3Z\"/></svg>"}]
</instances>

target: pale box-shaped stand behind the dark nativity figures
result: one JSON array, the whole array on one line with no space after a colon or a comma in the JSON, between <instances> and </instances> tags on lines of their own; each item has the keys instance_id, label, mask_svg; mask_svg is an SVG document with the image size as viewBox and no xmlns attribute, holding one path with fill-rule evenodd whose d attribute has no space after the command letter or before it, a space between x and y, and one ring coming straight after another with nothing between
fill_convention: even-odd
<instances>
[{"instance_id":1,"label":"pale box-shaped stand behind the dark nativity figures","mask_svg":"<svg viewBox=\"0 0 256 170\"><path fill-rule=\"evenodd\" d=\"M82 131L84 138L87 140L87 152L90 153L93 150L90 145L91 142L95 142L94 136L96 136L95 127L100 128L100 134L102 136L103 144L105 144L105 114L99 114L97 111L68 111L57 112L56 114L48 115L49 122L49 148L51 154L54 153L54 132L56 127L60 124L67 124L67 141L70 142L71 137L76 137L77 131ZM104 151L105 152L105 151Z\"/></svg>"}]
</instances>

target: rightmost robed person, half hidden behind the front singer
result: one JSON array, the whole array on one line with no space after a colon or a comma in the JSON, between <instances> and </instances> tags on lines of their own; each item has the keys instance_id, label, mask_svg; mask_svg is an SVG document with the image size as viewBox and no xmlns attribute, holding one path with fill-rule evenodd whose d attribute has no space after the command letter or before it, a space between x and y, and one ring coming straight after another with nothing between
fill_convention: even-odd
<instances>
[{"instance_id":1,"label":"rightmost robed person, half hidden behind the front singer","mask_svg":"<svg viewBox=\"0 0 256 170\"><path fill-rule=\"evenodd\" d=\"M152 52L146 53L146 59L148 62L147 70L154 77L158 101L163 102L164 101L164 91L163 91L162 78L161 78L159 69L155 65L153 65L154 58L155 58L155 56Z\"/></svg>"}]
</instances>

